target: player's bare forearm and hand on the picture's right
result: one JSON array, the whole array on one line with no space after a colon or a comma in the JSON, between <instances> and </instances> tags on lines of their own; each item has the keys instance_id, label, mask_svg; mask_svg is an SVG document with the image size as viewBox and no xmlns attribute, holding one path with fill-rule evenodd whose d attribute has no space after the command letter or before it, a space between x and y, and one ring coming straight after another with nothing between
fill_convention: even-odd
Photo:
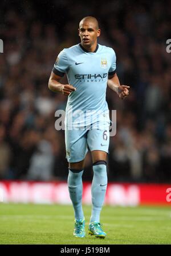
<instances>
[{"instance_id":1,"label":"player's bare forearm and hand on the picture's right","mask_svg":"<svg viewBox=\"0 0 171 256\"><path fill-rule=\"evenodd\" d=\"M125 99L125 97L128 96L130 86L127 85L120 85L119 78L117 74L113 74L112 76L108 76L108 82L107 82L109 88L114 90L121 99Z\"/></svg>"}]
</instances>

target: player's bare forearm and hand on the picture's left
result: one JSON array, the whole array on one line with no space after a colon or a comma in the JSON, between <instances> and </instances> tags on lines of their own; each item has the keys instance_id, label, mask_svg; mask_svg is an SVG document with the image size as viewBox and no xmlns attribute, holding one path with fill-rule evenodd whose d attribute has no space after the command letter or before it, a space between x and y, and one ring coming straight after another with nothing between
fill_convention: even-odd
<instances>
[{"instance_id":1,"label":"player's bare forearm and hand on the picture's left","mask_svg":"<svg viewBox=\"0 0 171 256\"><path fill-rule=\"evenodd\" d=\"M52 92L61 92L63 95L68 96L71 92L76 90L76 88L70 84L61 84L60 80L62 77L58 76L54 72L51 72L48 88L52 90Z\"/></svg>"}]
</instances>

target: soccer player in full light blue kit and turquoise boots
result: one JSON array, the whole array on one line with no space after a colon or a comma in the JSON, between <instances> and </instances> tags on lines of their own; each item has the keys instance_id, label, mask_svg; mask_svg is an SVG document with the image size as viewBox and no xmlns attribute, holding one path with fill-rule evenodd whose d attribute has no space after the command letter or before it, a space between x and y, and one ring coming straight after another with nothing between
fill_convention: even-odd
<instances>
[{"instance_id":1,"label":"soccer player in full light blue kit and turquoise boots","mask_svg":"<svg viewBox=\"0 0 171 256\"><path fill-rule=\"evenodd\" d=\"M97 19L85 17L79 23L80 44L63 49L56 59L48 88L68 96L65 119L65 143L68 160L68 190L75 213L75 237L85 237L82 208L82 175L87 147L91 151L93 180L92 214L88 233L105 238L100 211L107 189L107 153L109 147L109 111L105 100L107 85L121 99L129 86L120 85L116 74L116 55L112 48L97 44L100 29ZM60 79L67 74L68 84Z\"/></svg>"}]
</instances>

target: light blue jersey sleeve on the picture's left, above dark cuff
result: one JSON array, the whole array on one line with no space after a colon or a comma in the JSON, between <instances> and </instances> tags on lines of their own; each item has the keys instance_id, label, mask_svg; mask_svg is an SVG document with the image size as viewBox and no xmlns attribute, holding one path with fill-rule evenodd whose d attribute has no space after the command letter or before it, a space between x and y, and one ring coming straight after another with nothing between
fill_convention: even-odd
<instances>
[{"instance_id":1,"label":"light blue jersey sleeve on the picture's left, above dark cuff","mask_svg":"<svg viewBox=\"0 0 171 256\"><path fill-rule=\"evenodd\" d=\"M57 74L58 76L63 77L64 74L67 72L68 69L68 58L65 52L65 49L59 53L58 57L56 58L56 62L54 64L54 68L52 72Z\"/></svg>"}]
</instances>

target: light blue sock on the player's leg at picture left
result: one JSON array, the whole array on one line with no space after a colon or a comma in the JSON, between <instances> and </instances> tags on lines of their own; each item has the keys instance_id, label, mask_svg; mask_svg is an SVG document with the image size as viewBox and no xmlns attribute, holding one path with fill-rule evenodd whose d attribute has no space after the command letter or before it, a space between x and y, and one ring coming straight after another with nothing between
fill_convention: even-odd
<instances>
[{"instance_id":1,"label":"light blue sock on the player's leg at picture left","mask_svg":"<svg viewBox=\"0 0 171 256\"><path fill-rule=\"evenodd\" d=\"M83 182L82 182L83 170L69 169L68 174L68 190L70 192L70 198L74 207L75 219L83 219L82 208L82 194L83 194Z\"/></svg>"}]
</instances>

